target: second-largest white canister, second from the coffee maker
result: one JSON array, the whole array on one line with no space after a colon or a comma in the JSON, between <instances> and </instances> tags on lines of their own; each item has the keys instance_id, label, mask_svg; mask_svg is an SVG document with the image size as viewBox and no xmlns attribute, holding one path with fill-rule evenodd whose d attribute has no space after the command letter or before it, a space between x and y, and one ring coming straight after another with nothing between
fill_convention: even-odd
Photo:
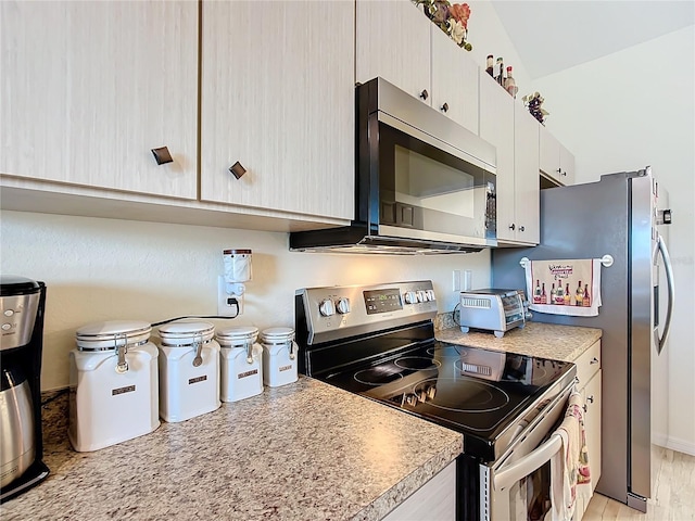
<instances>
[{"instance_id":1,"label":"second-largest white canister, second from the coffee maker","mask_svg":"<svg viewBox=\"0 0 695 521\"><path fill-rule=\"evenodd\" d=\"M160 416L184 421L217 409L219 344L215 327L178 321L160 328Z\"/></svg>"}]
</instances>

